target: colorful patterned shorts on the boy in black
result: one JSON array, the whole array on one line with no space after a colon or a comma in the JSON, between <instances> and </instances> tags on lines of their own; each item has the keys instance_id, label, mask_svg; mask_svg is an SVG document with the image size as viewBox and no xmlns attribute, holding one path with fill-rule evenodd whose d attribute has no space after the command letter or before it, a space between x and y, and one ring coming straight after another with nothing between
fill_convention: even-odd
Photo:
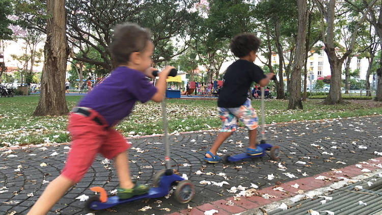
<instances>
[{"instance_id":1,"label":"colorful patterned shorts on the boy in black","mask_svg":"<svg viewBox=\"0 0 382 215\"><path fill-rule=\"evenodd\" d=\"M222 121L221 132L232 132L238 127L240 120L248 130L257 128L257 114L251 105L251 100L247 99L243 105L239 107L217 107L220 120Z\"/></svg>"}]
</instances>

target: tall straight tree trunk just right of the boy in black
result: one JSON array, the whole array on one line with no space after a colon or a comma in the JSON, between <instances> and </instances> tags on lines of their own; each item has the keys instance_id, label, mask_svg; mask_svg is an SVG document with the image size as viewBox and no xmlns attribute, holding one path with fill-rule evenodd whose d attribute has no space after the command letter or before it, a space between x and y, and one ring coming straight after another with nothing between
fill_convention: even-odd
<instances>
[{"instance_id":1,"label":"tall straight tree trunk just right of the boy in black","mask_svg":"<svg viewBox=\"0 0 382 215\"><path fill-rule=\"evenodd\" d=\"M301 69L304 64L307 13L309 13L307 7L307 1L297 1L298 30L292 78L290 80L288 110L303 109L303 102L301 101Z\"/></svg>"}]
</instances>

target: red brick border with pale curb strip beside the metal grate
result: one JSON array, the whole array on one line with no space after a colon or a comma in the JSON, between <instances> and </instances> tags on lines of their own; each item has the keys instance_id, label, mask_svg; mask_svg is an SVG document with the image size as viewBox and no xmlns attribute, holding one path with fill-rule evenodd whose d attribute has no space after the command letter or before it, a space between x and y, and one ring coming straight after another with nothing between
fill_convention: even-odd
<instances>
[{"instance_id":1,"label":"red brick border with pale curb strip beside the metal grate","mask_svg":"<svg viewBox=\"0 0 382 215\"><path fill-rule=\"evenodd\" d=\"M191 211L187 209L181 210L178 212L171 213L171 215L194 215L194 214L204 214L204 211L207 210L217 210L219 212L213 214L240 214L240 215L263 215L265 212L270 212L272 210L277 209L282 203L286 205L293 204L297 201L302 200L307 196L317 196L332 191L334 189L339 189L344 185L351 181L363 180L378 174L382 174L382 157L376 157L367 160L367 164L365 162L362 163L362 169L368 169L371 172L361 173L360 168L356 167L356 165L350 165L341 169L337 169L336 172L323 172L314 176L301 178L293 181L288 181L285 183L281 183L278 186L283 187L284 191L275 191L273 187L266 187L261 190L258 190L260 193L267 193L272 196L276 196L277 198L269 198L265 199L260 196L252 196L252 197L240 197L239 201L235 201L233 197L229 197L227 199L222 199L210 203L206 203L200 206L195 206ZM340 173L341 171L341 173ZM318 176L325 176L330 178L330 180L319 180L315 179ZM346 177L349 180L344 180L338 177ZM298 189L295 189L291 185L297 183L299 185ZM306 191L304 194L297 194L298 190ZM234 205L229 206L226 205L226 202L230 201L234 203ZM260 210L260 208L262 210Z\"/></svg>"}]
</instances>

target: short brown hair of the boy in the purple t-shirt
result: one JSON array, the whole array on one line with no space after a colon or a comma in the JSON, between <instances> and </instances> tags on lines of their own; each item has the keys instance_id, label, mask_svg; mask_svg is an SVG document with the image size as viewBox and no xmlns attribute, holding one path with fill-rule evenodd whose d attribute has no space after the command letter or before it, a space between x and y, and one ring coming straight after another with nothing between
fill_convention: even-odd
<instances>
[{"instance_id":1,"label":"short brown hair of the boy in the purple t-shirt","mask_svg":"<svg viewBox=\"0 0 382 215\"><path fill-rule=\"evenodd\" d=\"M123 23L114 28L110 52L118 65L129 61L132 52L143 51L151 41L151 31L138 24Z\"/></svg>"}]
</instances>

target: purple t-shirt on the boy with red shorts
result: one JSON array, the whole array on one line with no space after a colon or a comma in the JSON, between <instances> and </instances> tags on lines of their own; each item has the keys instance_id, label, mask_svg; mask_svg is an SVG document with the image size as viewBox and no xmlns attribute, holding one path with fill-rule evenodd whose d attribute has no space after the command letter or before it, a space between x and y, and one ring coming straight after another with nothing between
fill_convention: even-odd
<instances>
[{"instance_id":1,"label":"purple t-shirt on the boy with red shorts","mask_svg":"<svg viewBox=\"0 0 382 215\"><path fill-rule=\"evenodd\" d=\"M121 66L80 100L78 106L90 107L109 125L115 125L131 113L135 101L145 103L156 91L142 72Z\"/></svg>"}]
</instances>

